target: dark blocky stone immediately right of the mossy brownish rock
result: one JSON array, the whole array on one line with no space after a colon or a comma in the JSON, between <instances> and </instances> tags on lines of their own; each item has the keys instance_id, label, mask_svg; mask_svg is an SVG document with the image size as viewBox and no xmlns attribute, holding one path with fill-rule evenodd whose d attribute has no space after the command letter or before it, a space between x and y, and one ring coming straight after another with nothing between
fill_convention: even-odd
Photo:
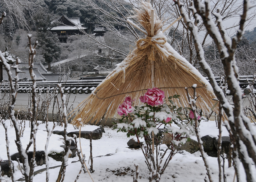
<instances>
[{"instance_id":1,"label":"dark blocky stone immediately right of the mossy brownish rock","mask_svg":"<svg viewBox=\"0 0 256 182\"><path fill-rule=\"evenodd\" d=\"M203 142L204 151L208 156L217 157L217 150L215 148L214 142L216 141L216 137L211 137L209 135L201 137Z\"/></svg>"}]
</instances>

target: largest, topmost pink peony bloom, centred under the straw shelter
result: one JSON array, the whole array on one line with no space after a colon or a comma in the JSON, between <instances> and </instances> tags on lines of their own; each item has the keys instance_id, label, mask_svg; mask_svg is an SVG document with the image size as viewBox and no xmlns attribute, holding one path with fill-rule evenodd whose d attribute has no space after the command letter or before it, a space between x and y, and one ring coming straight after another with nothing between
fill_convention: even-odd
<instances>
[{"instance_id":1,"label":"largest, topmost pink peony bloom, centred under the straw shelter","mask_svg":"<svg viewBox=\"0 0 256 182\"><path fill-rule=\"evenodd\" d=\"M152 89L147 89L144 96L140 97L140 101L147 103L150 106L158 106L164 103L164 91L154 87Z\"/></svg>"}]
</instances>

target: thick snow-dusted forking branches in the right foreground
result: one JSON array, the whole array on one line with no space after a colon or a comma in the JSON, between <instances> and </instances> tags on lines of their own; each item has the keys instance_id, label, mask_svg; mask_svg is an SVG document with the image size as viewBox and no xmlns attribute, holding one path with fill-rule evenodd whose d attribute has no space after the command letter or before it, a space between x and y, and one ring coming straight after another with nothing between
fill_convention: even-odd
<instances>
[{"instance_id":1,"label":"thick snow-dusted forking branches in the right foreground","mask_svg":"<svg viewBox=\"0 0 256 182\"><path fill-rule=\"evenodd\" d=\"M205 1L204 4L199 0L195 0L194 3L191 3L190 9L193 12L195 23L191 21L190 17L185 12L183 4L180 2L180 0L175 1L175 3L179 7L180 13L183 16L187 28L193 35L199 64L201 65L203 71L207 74L214 93L220 101L220 106L223 108L228 118L228 124L226 127L228 127L228 129L230 129L232 132L232 136L230 137L232 138L232 143L234 144L233 161L237 179L238 181L240 179L238 169L240 159L246 171L247 181L253 181L253 173L251 170L252 165L249 161L249 156L253 159L254 163L256 163L256 140L255 134L251 130L251 123L249 122L249 119L242 113L242 93L237 80L238 69L234 58L237 43L241 39L242 31L244 29L248 9L247 0L244 0L240 26L237 30L237 36L232 38L232 43L228 36L226 36L225 30L221 27L223 18L221 17L220 10L214 14L217 18L217 26L219 27L219 30L217 29L215 22L212 19L211 9L208 1ZM197 27L197 23L201 20L203 21L204 26L206 27L209 35L218 48L218 52L220 53L228 88L230 90L230 94L233 96L234 108L228 102L223 90L217 85L216 81L214 80L213 72L204 58L204 50L202 49L202 45L199 41Z\"/></svg>"}]
</instances>

